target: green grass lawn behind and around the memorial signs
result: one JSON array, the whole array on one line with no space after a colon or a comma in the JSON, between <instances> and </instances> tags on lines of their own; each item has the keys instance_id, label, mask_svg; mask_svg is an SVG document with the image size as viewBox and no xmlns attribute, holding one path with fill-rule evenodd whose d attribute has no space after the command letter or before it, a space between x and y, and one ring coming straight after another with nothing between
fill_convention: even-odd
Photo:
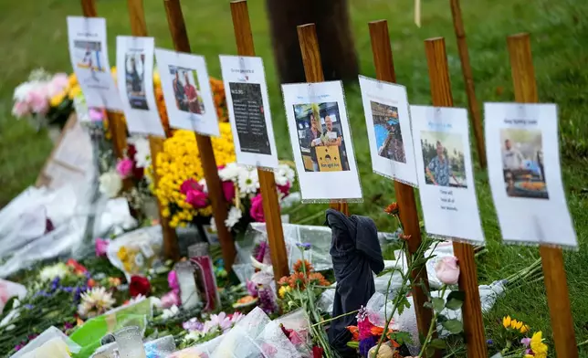
<instances>
[{"instance_id":1,"label":"green grass lawn behind and around the memorial signs","mask_svg":"<svg viewBox=\"0 0 588 358\"><path fill-rule=\"evenodd\" d=\"M70 71L66 16L79 15L78 1L0 0L4 20L0 22L0 207L26 186L33 184L51 144L45 132L33 132L26 121L10 114L13 89L39 67L49 71ZM278 88L268 37L263 0L249 1L257 55L265 59L274 130L280 157L291 159L288 128ZM566 270L572 300L572 313L578 342L588 340L588 110L585 90L588 84L588 2L585 0L467 0L462 1L467 43L474 68L478 100L513 100L506 37L530 32L540 100L560 106L563 178L570 210L580 240L580 252L566 253ZM398 82L407 86L409 100L429 104L429 83L423 40L446 37L449 68L456 106L466 106L459 58L449 4L446 0L423 2L423 26L413 23L411 0L350 0L352 27L361 60L362 74L374 77L372 50L367 23L385 18L391 30ZM125 2L98 0L100 16L108 19L110 64L115 63L115 37L129 35ZM145 0L150 34L159 47L172 48L162 0ZM213 76L220 75L218 54L235 54L228 1L184 0L184 16L194 53L205 55ZM394 200L393 184L372 173L362 101L356 84L346 89L352 121L353 142L361 170L364 201L350 205L354 214L371 216L380 230L391 230L392 222L383 215L383 205ZM485 171L476 171L478 204L488 253L478 258L480 283L502 279L523 269L538 258L533 247L504 246ZM293 222L322 211L326 205L305 205L292 215ZM545 213L549 219L550 213ZM320 225L316 217L307 224ZM542 282L509 291L486 315L488 337L499 327L503 315L526 321L533 330L551 337L550 318ZM552 346L551 346L552 347ZM586 346L588 347L588 346ZM551 350L552 351L552 350ZM552 352L551 352L552 353ZM588 348L581 349L588 357Z\"/></svg>"}]
</instances>

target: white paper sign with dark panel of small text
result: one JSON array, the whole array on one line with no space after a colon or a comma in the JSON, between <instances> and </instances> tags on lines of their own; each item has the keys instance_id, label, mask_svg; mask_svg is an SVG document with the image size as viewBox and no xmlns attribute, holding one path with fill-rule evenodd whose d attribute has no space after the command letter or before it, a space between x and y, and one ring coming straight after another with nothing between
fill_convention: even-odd
<instances>
[{"instance_id":1,"label":"white paper sign with dark panel of small text","mask_svg":"<svg viewBox=\"0 0 588 358\"><path fill-rule=\"evenodd\" d=\"M220 61L236 162L268 168L278 167L263 60L220 56Z\"/></svg>"}]
</instances>

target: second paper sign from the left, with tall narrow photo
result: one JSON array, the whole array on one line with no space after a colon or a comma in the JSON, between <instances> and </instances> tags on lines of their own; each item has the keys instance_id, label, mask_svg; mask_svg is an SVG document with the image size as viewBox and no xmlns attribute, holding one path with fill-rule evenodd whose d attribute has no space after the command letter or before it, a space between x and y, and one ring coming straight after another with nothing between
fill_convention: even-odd
<instances>
[{"instance_id":1,"label":"second paper sign from the left, with tall narrow photo","mask_svg":"<svg viewBox=\"0 0 588 358\"><path fill-rule=\"evenodd\" d=\"M131 133L165 136L153 93L153 37L116 38L117 77Z\"/></svg>"}]
</instances>

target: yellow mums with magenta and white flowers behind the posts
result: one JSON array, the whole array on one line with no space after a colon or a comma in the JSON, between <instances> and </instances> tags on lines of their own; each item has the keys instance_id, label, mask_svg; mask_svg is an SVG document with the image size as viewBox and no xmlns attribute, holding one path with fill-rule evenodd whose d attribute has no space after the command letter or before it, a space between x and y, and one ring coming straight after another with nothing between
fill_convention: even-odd
<instances>
[{"instance_id":1,"label":"yellow mums with magenta and white flowers behind the posts","mask_svg":"<svg viewBox=\"0 0 588 358\"><path fill-rule=\"evenodd\" d=\"M213 138L212 143L223 192L230 203L225 224L237 230L251 221L265 221L257 170L235 163L230 125L222 122L219 126L221 137ZM199 155L194 132L177 131L163 143L163 152L156 159L159 181L155 195L165 207L163 216L170 218L170 226L187 226L196 218L212 216ZM278 191L285 197L294 182L294 171L280 164L275 176Z\"/></svg>"}]
</instances>

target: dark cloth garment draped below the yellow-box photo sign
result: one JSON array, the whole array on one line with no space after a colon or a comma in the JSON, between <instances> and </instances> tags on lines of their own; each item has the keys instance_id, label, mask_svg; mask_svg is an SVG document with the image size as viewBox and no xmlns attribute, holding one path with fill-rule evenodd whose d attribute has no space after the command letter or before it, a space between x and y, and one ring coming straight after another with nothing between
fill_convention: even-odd
<instances>
[{"instance_id":1,"label":"dark cloth garment draped below the yellow-box photo sign","mask_svg":"<svg viewBox=\"0 0 588 358\"><path fill-rule=\"evenodd\" d=\"M359 310L375 292L373 273L383 270L382 248L373 220L366 216L347 217L328 209L325 225L331 227L331 258L337 280L332 317ZM329 342L342 357L356 357L354 349L346 345L352 333L346 327L357 325L355 315L331 322Z\"/></svg>"}]
</instances>

